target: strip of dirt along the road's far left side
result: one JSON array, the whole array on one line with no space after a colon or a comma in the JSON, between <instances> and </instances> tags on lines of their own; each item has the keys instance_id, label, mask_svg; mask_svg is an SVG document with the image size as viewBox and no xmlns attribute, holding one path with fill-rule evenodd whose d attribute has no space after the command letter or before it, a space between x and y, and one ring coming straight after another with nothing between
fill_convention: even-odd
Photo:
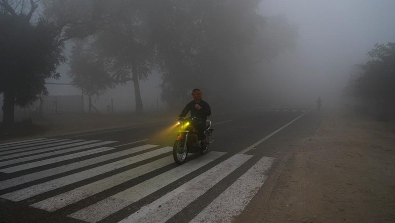
<instances>
[{"instance_id":1,"label":"strip of dirt along the road's far left side","mask_svg":"<svg viewBox=\"0 0 395 223\"><path fill-rule=\"evenodd\" d=\"M122 128L160 121L172 121L177 113L135 114L57 114L44 118L36 117L31 121L15 123L11 128L0 125L0 143L38 137L53 137Z\"/></svg>"}]
</instances>

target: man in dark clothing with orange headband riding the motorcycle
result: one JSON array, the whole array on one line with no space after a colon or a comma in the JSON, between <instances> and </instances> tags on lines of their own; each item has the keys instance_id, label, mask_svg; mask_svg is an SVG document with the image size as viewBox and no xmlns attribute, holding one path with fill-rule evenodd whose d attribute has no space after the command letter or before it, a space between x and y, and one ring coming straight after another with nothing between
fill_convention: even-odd
<instances>
[{"instance_id":1,"label":"man in dark clothing with orange headband riding the motorcycle","mask_svg":"<svg viewBox=\"0 0 395 223\"><path fill-rule=\"evenodd\" d=\"M205 122L207 120L207 116L211 115L210 105L204 100L202 100L202 92L200 89L192 90L193 101L189 102L185 108L182 110L181 114L178 116L178 119L185 117L188 112L191 111L191 117L197 117L199 120L195 124L195 129L197 130L197 139L201 141L204 139L204 127Z\"/></svg>"}]
</instances>

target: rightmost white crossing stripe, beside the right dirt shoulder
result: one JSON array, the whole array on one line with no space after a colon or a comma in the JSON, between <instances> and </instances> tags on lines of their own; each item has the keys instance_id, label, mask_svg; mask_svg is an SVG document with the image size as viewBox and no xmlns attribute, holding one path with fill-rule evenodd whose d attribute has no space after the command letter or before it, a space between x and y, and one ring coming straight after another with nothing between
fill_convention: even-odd
<instances>
[{"instance_id":1,"label":"rightmost white crossing stripe, beside the right dirt shoulder","mask_svg":"<svg viewBox=\"0 0 395 223\"><path fill-rule=\"evenodd\" d=\"M261 188L275 159L262 157L190 223L232 222L233 218L240 215Z\"/></svg>"}]
</instances>

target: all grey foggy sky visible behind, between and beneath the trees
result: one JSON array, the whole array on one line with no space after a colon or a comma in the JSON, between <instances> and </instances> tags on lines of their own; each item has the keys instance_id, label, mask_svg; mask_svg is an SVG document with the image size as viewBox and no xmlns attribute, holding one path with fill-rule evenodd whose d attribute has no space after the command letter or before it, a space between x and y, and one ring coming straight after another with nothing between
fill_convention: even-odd
<instances>
[{"instance_id":1,"label":"all grey foggy sky visible behind, between and beneath the trees","mask_svg":"<svg viewBox=\"0 0 395 223\"><path fill-rule=\"evenodd\" d=\"M324 108L345 105L348 101L342 92L353 67L368 60L366 53L376 43L395 41L394 9L393 0L262 0L259 14L286 20L295 27L295 44L261 61L258 67L263 75L241 78L239 89L227 88L227 80L223 80L218 89L204 89L198 83L192 88L201 88L203 99L212 105L214 112L221 98L244 100L242 106L249 104L257 108L310 109L315 108L318 96ZM279 38L276 44L281 45L281 40ZM66 45L66 55L70 54L69 48ZM71 85L54 85L72 82L67 75L69 61L59 66L59 80L46 81L53 83L46 85L48 95L81 95L81 89ZM140 81L144 111L169 109L161 99L161 83L158 72ZM192 99L188 95L190 90L185 88L188 100ZM246 96L238 97L237 92L246 92ZM104 94L92 96L91 100L101 113L110 112L110 105L117 113L134 111L133 83L129 81L108 89ZM179 103L178 109L182 109L183 103ZM85 95L84 111L87 104Z\"/></svg>"}]
</instances>

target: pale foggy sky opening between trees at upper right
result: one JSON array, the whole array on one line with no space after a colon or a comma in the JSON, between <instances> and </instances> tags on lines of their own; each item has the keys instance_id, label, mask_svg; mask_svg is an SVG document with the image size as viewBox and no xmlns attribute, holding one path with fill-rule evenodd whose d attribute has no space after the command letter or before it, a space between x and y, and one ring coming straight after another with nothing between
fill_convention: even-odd
<instances>
[{"instance_id":1,"label":"pale foggy sky opening between trees at upper right","mask_svg":"<svg viewBox=\"0 0 395 223\"><path fill-rule=\"evenodd\" d=\"M393 0L264 0L263 15L284 15L299 30L295 50L271 62L273 84L265 86L285 105L314 106L318 96L324 107L346 103L353 65L374 44L395 41L394 9Z\"/></svg>"}]
</instances>

